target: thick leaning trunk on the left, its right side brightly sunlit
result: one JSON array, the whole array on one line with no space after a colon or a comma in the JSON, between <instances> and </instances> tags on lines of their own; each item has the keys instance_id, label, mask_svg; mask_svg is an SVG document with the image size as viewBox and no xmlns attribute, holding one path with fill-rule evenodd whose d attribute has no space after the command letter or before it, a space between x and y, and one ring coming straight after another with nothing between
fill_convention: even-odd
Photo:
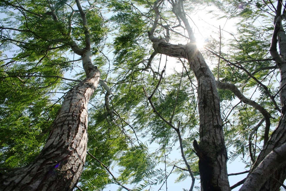
<instances>
[{"instance_id":1,"label":"thick leaning trunk on the left, its right side brightly sunlit","mask_svg":"<svg viewBox=\"0 0 286 191\"><path fill-rule=\"evenodd\" d=\"M66 191L75 187L86 159L87 106L100 77L90 51L82 57L87 77L64 97L43 150L26 167L1 175L0 190Z\"/></svg>"}]
</instances>

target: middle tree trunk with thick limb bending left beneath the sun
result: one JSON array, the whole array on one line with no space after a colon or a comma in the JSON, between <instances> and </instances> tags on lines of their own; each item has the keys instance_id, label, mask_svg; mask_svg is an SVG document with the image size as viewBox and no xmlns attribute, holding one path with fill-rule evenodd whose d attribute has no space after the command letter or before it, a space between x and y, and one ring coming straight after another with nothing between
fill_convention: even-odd
<instances>
[{"instance_id":1,"label":"middle tree trunk with thick limb bending left beneath the sun","mask_svg":"<svg viewBox=\"0 0 286 191\"><path fill-rule=\"evenodd\" d=\"M198 80L200 142L196 151L200 153L198 156L201 190L229 191L220 102L212 72L194 44L154 42L153 48L161 54L188 59Z\"/></svg>"}]
</instances>

